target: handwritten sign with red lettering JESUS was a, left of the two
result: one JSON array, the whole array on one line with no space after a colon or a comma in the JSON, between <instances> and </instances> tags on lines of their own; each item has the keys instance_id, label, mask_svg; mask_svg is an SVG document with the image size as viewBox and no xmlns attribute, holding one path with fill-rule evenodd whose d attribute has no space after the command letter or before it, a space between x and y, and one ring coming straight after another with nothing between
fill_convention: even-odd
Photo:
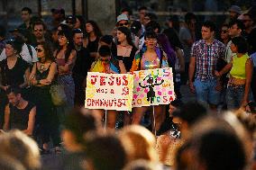
<instances>
[{"instance_id":1,"label":"handwritten sign with red lettering JESUS was a, left of the two","mask_svg":"<svg viewBox=\"0 0 256 170\"><path fill-rule=\"evenodd\" d=\"M85 107L132 111L133 75L88 72Z\"/></svg>"}]
</instances>

